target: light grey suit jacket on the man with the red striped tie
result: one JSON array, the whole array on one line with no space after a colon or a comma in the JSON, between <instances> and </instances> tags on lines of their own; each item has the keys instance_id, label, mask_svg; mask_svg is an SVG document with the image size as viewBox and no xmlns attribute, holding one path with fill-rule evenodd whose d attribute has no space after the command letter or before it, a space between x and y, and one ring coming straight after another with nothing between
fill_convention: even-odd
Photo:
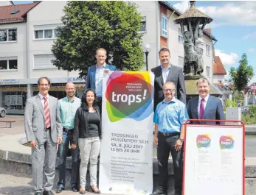
<instances>
[{"instance_id":1,"label":"light grey suit jacket on the man with the red striped tie","mask_svg":"<svg viewBox=\"0 0 256 195\"><path fill-rule=\"evenodd\" d=\"M58 143L58 136L62 137L63 129L60 119L58 99L53 96L49 96L49 110L51 116L52 141ZM27 141L37 141L38 144L43 144L45 118L44 108L39 95L27 99L24 115L24 127Z\"/></svg>"}]
</instances>

